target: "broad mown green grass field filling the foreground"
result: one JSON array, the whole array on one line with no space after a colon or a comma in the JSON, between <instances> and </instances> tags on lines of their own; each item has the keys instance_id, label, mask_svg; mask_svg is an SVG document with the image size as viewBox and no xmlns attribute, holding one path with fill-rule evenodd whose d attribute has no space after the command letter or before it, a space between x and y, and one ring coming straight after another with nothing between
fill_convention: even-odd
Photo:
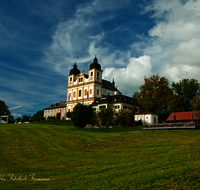
<instances>
[{"instance_id":1,"label":"broad mown green grass field filling the foreground","mask_svg":"<svg viewBox=\"0 0 200 190\"><path fill-rule=\"evenodd\" d=\"M1 124L0 189L200 189L200 130Z\"/></svg>"}]
</instances>

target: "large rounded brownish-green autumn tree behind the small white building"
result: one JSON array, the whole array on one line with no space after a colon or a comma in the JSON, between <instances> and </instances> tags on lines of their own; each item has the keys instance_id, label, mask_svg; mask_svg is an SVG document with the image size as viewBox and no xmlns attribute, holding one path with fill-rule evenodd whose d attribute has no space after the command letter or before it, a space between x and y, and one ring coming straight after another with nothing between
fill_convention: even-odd
<instances>
[{"instance_id":1,"label":"large rounded brownish-green autumn tree behind the small white building","mask_svg":"<svg viewBox=\"0 0 200 190\"><path fill-rule=\"evenodd\" d=\"M145 76L137 100L143 111L156 112L168 109L168 98L171 94L168 79L159 75Z\"/></svg>"}]
</instances>

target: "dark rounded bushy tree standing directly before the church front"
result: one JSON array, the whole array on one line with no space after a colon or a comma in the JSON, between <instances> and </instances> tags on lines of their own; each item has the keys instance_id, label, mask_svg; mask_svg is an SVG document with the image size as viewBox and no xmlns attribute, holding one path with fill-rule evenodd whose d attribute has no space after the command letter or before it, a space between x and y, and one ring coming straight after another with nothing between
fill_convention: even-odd
<instances>
[{"instance_id":1,"label":"dark rounded bushy tree standing directly before the church front","mask_svg":"<svg viewBox=\"0 0 200 190\"><path fill-rule=\"evenodd\" d=\"M93 109L90 106L77 104L71 112L71 121L74 126L85 127L92 123Z\"/></svg>"}]
</instances>

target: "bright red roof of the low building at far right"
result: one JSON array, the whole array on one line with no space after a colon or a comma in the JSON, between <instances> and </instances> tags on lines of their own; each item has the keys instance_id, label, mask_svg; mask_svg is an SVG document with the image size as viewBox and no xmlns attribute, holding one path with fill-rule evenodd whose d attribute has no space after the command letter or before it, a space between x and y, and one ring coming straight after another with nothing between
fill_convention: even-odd
<instances>
[{"instance_id":1,"label":"bright red roof of the low building at far right","mask_svg":"<svg viewBox=\"0 0 200 190\"><path fill-rule=\"evenodd\" d=\"M200 118L195 116L195 111L188 111L188 112L174 112L171 113L170 116L167 118L167 121L174 121L174 114L176 116L176 121L192 121L192 113L193 113L193 120L200 120Z\"/></svg>"}]
</instances>

